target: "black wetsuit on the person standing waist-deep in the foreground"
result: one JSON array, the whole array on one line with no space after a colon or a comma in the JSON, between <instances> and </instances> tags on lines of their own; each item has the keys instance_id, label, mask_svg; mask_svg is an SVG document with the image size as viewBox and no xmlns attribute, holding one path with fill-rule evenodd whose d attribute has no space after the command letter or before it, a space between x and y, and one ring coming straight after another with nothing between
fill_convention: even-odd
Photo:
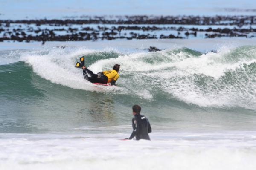
<instances>
[{"instance_id":1,"label":"black wetsuit on the person standing waist-deep in the foreground","mask_svg":"<svg viewBox=\"0 0 256 170\"><path fill-rule=\"evenodd\" d=\"M148 133L151 133L151 126L148 119L143 115L134 115L132 119L133 132L129 139L136 136L136 140L147 139L150 140Z\"/></svg>"}]
</instances>

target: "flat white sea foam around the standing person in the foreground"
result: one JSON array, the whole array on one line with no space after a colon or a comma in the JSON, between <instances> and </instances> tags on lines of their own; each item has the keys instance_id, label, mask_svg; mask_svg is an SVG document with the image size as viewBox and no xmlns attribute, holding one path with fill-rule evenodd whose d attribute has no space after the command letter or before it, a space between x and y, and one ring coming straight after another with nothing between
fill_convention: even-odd
<instances>
[{"instance_id":1,"label":"flat white sea foam around the standing person in the foreground","mask_svg":"<svg viewBox=\"0 0 256 170\"><path fill-rule=\"evenodd\" d=\"M254 170L256 133L2 134L3 170Z\"/></svg>"}]
</instances>

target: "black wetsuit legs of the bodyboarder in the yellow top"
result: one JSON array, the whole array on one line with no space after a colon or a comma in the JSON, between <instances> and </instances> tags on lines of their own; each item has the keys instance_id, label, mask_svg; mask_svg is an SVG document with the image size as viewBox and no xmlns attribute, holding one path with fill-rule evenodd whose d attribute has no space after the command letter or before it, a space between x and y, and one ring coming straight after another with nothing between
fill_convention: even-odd
<instances>
[{"instance_id":1,"label":"black wetsuit legs of the bodyboarder in the yellow top","mask_svg":"<svg viewBox=\"0 0 256 170\"><path fill-rule=\"evenodd\" d=\"M83 69L83 75L84 75L84 78L90 81L91 83L103 83L103 84L108 83L108 77L103 75L102 72L99 72L98 74L94 74L92 71L85 68Z\"/></svg>"}]
</instances>

